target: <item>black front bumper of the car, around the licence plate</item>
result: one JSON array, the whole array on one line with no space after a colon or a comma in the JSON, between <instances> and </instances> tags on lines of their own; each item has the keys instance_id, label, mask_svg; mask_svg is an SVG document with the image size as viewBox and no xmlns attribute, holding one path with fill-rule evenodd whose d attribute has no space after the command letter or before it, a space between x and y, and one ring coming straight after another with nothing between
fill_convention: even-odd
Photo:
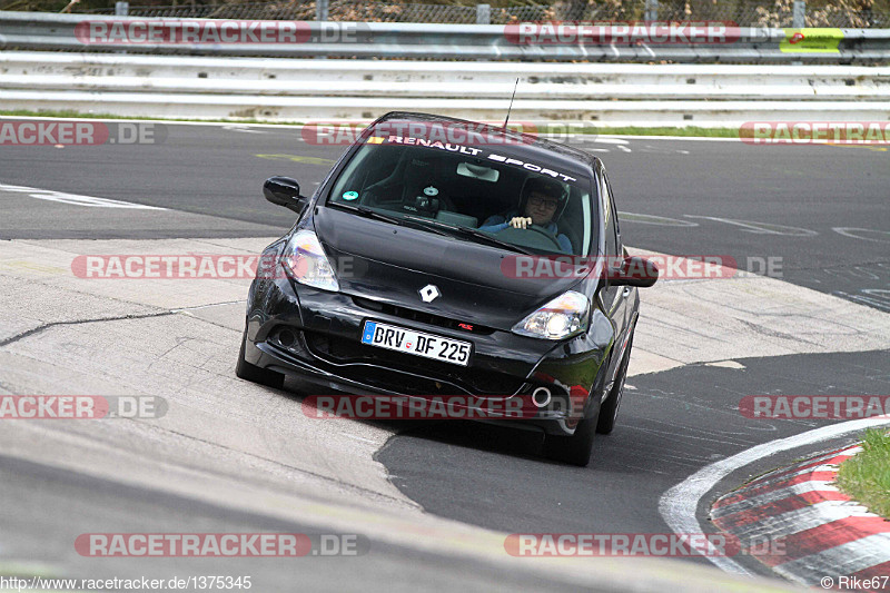
<instances>
[{"instance_id":1,"label":"black front bumper of the car, around the licence plate","mask_svg":"<svg viewBox=\"0 0 890 593\"><path fill-rule=\"evenodd\" d=\"M472 342L469 365L362 344L366 320ZM465 332L453 322L288 278L257 279L248 298L245 358L350 394L497 399L501 408L525 411L522 419L504 422L548 434L573 434L582 418L599 411L601 397L591 393L602 393L607 344L593 344L587 335L554 344L492 328ZM532 401L540 387L551 392L543 407ZM498 421L493 415L485 422Z\"/></svg>"}]
</instances>

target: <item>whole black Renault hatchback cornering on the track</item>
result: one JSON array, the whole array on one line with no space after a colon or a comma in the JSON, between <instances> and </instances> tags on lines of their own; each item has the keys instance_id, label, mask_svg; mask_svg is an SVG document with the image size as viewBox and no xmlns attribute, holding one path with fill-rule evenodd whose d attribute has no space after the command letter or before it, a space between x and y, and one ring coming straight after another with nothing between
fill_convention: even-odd
<instances>
[{"instance_id":1,"label":"whole black Renault hatchback cornering on the track","mask_svg":"<svg viewBox=\"0 0 890 593\"><path fill-rule=\"evenodd\" d=\"M393 112L313 197L286 177L264 192L299 217L250 286L239 377L514 402L531 413L513 425L543 431L547 457L589 463L615 425L636 287L657 277L622 246L600 159Z\"/></svg>"}]
</instances>

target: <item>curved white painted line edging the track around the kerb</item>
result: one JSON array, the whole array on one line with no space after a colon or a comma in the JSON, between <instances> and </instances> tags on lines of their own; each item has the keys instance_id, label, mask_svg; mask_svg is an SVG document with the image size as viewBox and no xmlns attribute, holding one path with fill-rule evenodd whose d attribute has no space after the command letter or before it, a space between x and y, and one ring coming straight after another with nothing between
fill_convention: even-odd
<instances>
[{"instance_id":1,"label":"curved white painted line edging the track around the kerb","mask_svg":"<svg viewBox=\"0 0 890 593\"><path fill-rule=\"evenodd\" d=\"M864 431L871 426L887 425L890 425L890 419L888 418L863 418L842 422L787 438L770 441L742 451L731 457L702 467L680 484L670 488L659 501L659 513L676 534L702 533L703 527L695 517L699 510L699 501L711 492L718 482L732 472L783 451L830 441L850 433ZM709 543L708 546L710 547L711 544ZM732 573L751 574L750 571L742 567L734 560L716 555L716 548L708 550L705 557L719 569Z\"/></svg>"}]
</instances>

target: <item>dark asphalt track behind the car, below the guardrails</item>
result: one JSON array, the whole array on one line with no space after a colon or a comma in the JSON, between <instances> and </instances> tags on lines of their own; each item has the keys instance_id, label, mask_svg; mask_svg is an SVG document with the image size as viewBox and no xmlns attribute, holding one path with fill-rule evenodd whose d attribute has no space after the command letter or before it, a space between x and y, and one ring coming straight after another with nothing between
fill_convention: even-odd
<instances>
[{"instance_id":1,"label":"dark asphalt track behind the car, below the guardrails","mask_svg":"<svg viewBox=\"0 0 890 593\"><path fill-rule=\"evenodd\" d=\"M0 221L0 238L276 235L293 223L260 197L287 175L314 190L343 152L299 129L165 126L154 145L0 147L0 182L214 217L156 228L57 224L41 208ZM312 140L313 136L309 135ZM750 146L736 141L583 138L610 172L625 243L732 257L741 269L890 310L890 152L876 146ZM631 216L631 215L644 215ZM642 221L641 221L642 220ZM753 225L753 226L752 226ZM265 228L264 228L265 227Z\"/></svg>"}]
</instances>

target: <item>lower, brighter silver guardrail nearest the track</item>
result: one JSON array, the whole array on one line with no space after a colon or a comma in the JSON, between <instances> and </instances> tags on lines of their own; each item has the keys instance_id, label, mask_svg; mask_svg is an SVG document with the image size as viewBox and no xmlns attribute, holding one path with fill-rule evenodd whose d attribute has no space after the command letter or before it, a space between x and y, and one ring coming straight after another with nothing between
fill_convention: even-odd
<instances>
[{"instance_id":1,"label":"lower, brighter silver guardrail nearest the track","mask_svg":"<svg viewBox=\"0 0 890 593\"><path fill-rule=\"evenodd\" d=\"M394 109L500 121L720 126L887 120L890 68L280 60L0 53L4 109L116 116L368 120Z\"/></svg>"}]
</instances>

